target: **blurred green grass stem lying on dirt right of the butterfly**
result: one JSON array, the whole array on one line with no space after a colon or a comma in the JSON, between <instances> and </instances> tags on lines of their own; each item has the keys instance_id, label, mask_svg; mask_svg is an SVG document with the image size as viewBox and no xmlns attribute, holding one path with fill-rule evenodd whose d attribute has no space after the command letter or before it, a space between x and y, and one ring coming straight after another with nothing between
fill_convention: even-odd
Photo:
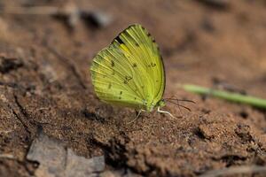
<instances>
[{"instance_id":1,"label":"blurred green grass stem lying on dirt right of the butterfly","mask_svg":"<svg viewBox=\"0 0 266 177\"><path fill-rule=\"evenodd\" d=\"M191 85L191 84L184 84L181 87L184 90L197 93L200 95L215 96L215 97L223 98L231 102L240 103L240 104L249 104L257 108L266 109L266 99L262 99L262 98L258 98L254 96L240 95L237 93L231 93L231 92L217 90L217 89L208 89L208 88L203 88L203 87Z\"/></svg>"}]
</instances>

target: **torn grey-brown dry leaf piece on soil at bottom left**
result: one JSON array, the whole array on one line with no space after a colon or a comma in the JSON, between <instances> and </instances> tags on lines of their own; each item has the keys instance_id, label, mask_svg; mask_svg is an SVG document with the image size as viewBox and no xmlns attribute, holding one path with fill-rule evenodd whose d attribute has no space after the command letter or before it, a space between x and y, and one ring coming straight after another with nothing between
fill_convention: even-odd
<instances>
[{"instance_id":1,"label":"torn grey-brown dry leaf piece on soil at bottom left","mask_svg":"<svg viewBox=\"0 0 266 177\"><path fill-rule=\"evenodd\" d=\"M32 143L27 159L40 164L35 171L37 177L92 177L98 176L98 173L103 172L106 167L104 156L95 158L77 156L73 150L66 149L63 142L43 133Z\"/></svg>"}]
</instances>

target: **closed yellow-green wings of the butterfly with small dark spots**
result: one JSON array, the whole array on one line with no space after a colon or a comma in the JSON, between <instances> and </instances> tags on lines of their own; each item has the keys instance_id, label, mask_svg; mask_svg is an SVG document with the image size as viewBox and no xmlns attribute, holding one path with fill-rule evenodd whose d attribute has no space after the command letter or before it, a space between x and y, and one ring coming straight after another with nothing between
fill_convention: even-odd
<instances>
[{"instance_id":1,"label":"closed yellow-green wings of the butterfly with small dark spots","mask_svg":"<svg viewBox=\"0 0 266 177\"><path fill-rule=\"evenodd\" d=\"M153 37L132 25L93 59L90 68L97 96L106 103L148 110L164 92L165 73Z\"/></svg>"}]
</instances>

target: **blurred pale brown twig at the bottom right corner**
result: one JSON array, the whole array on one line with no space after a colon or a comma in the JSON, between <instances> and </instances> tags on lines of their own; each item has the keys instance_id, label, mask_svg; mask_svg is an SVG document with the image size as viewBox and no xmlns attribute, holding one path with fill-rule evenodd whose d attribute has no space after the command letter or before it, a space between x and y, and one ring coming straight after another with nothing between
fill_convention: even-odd
<instances>
[{"instance_id":1,"label":"blurred pale brown twig at the bottom right corner","mask_svg":"<svg viewBox=\"0 0 266 177\"><path fill-rule=\"evenodd\" d=\"M266 166L259 165L242 165L234 166L230 168L223 168L219 170L211 170L207 173L201 174L200 177L218 177L218 176L228 176L241 173L266 173Z\"/></svg>"}]
</instances>

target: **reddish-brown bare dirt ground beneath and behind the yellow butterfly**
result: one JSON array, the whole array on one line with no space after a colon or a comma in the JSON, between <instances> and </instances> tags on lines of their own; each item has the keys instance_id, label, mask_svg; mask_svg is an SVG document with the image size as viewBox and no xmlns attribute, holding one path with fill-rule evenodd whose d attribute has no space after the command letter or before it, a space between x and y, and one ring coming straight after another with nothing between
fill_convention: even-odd
<instances>
[{"instance_id":1,"label":"reddish-brown bare dirt ground beneath and behind the yellow butterfly","mask_svg":"<svg viewBox=\"0 0 266 177\"><path fill-rule=\"evenodd\" d=\"M82 157L105 155L106 170L145 176L197 176L239 165L266 165L266 112L178 88L199 84L266 98L266 2L14 0L3 7L72 2L102 12L103 24L70 28L51 15L0 14L0 176L31 176L26 155L38 129ZM3 9L2 9L3 10ZM106 17L105 17L106 16ZM190 99L143 113L98 100L90 63L122 29L139 23L160 46L164 97ZM263 176L245 173L245 176Z\"/></svg>"}]
</instances>

